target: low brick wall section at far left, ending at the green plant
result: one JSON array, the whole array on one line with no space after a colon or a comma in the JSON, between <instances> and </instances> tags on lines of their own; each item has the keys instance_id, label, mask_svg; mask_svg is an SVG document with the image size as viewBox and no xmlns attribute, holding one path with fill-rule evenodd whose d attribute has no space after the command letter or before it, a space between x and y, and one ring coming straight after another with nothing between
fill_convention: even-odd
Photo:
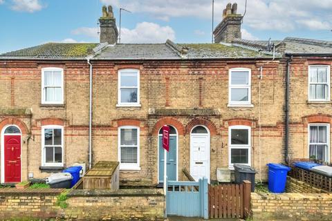
<instances>
[{"instance_id":1,"label":"low brick wall section at far left, ending at the green plant","mask_svg":"<svg viewBox=\"0 0 332 221\"><path fill-rule=\"evenodd\" d=\"M0 219L56 218L62 189L0 189Z\"/></svg>"}]
</instances>

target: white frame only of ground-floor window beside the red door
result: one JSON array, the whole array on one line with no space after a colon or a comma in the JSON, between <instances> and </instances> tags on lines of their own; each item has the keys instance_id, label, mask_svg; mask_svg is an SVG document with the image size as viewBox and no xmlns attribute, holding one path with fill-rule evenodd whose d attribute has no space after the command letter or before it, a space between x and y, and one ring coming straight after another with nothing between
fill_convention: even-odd
<instances>
[{"instance_id":1,"label":"white frame only of ground-floor window beside the red door","mask_svg":"<svg viewBox=\"0 0 332 221\"><path fill-rule=\"evenodd\" d=\"M62 163L46 163L45 129L61 129ZM42 126L41 141L42 141L42 166L64 166L64 126L59 126L59 125Z\"/></svg>"}]
</instances>

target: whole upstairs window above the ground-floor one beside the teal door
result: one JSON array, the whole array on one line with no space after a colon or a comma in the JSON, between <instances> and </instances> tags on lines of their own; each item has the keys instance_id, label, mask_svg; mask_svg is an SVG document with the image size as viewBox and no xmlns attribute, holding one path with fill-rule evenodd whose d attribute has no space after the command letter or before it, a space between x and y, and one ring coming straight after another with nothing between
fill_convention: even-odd
<instances>
[{"instance_id":1,"label":"whole upstairs window above the ground-floor one beside the teal door","mask_svg":"<svg viewBox=\"0 0 332 221\"><path fill-rule=\"evenodd\" d=\"M118 105L140 105L140 72L134 69L119 70Z\"/></svg>"}]
</instances>

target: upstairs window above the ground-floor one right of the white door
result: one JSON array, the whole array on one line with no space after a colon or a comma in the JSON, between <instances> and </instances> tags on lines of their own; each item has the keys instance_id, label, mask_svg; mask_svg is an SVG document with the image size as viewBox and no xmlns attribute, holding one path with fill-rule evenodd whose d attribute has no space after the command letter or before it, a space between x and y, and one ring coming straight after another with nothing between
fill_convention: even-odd
<instances>
[{"instance_id":1,"label":"upstairs window above the ground-floor one right of the white door","mask_svg":"<svg viewBox=\"0 0 332 221\"><path fill-rule=\"evenodd\" d=\"M251 105L251 70L232 68L229 73L228 102L234 106Z\"/></svg>"}]
</instances>

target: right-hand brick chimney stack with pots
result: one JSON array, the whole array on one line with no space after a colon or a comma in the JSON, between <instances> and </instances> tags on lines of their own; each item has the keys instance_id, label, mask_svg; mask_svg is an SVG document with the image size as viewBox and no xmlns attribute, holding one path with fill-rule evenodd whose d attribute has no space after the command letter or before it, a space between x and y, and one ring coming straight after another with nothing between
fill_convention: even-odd
<instances>
[{"instance_id":1,"label":"right-hand brick chimney stack with pots","mask_svg":"<svg viewBox=\"0 0 332 221\"><path fill-rule=\"evenodd\" d=\"M232 43L234 39L241 39L242 15L237 14L237 3L228 3L223 10L223 21L213 31L214 42Z\"/></svg>"}]
</instances>

